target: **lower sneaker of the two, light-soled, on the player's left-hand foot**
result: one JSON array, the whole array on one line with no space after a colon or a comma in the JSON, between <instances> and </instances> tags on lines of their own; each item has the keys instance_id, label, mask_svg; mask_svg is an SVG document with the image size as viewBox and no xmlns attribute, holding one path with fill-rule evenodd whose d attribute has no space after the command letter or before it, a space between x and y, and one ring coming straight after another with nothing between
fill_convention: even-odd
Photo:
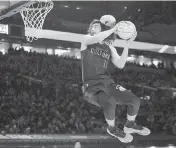
<instances>
[{"instance_id":1,"label":"lower sneaker of the two, light-soled, on the player's left-hand foot","mask_svg":"<svg viewBox=\"0 0 176 148\"><path fill-rule=\"evenodd\" d=\"M108 126L107 133L115 138L118 138L123 143L130 143L133 141L133 136L131 134L126 134L117 127Z\"/></svg>"}]
</instances>

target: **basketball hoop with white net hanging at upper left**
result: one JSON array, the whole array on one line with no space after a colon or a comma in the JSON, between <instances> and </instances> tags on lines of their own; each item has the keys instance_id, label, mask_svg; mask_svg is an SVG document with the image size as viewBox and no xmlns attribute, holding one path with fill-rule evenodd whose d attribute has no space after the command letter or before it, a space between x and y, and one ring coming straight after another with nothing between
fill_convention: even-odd
<instances>
[{"instance_id":1,"label":"basketball hoop with white net hanging at upper left","mask_svg":"<svg viewBox=\"0 0 176 148\"><path fill-rule=\"evenodd\" d=\"M42 29L45 17L53 8L54 3L51 0L37 1L29 6L25 6L21 11L25 28ZM38 38L26 36L27 41L32 42Z\"/></svg>"}]
</instances>

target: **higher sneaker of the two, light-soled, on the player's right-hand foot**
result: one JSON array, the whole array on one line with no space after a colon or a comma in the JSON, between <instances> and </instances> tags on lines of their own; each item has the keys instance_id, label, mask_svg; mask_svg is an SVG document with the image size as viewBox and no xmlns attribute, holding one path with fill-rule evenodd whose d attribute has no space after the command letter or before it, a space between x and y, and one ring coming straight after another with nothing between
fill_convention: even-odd
<instances>
[{"instance_id":1,"label":"higher sneaker of the two, light-soled, on the player's right-hand foot","mask_svg":"<svg viewBox=\"0 0 176 148\"><path fill-rule=\"evenodd\" d=\"M147 136L151 131L141 125L137 125L134 121L127 121L124 126L124 132L128 134L136 133L142 136Z\"/></svg>"}]
</instances>

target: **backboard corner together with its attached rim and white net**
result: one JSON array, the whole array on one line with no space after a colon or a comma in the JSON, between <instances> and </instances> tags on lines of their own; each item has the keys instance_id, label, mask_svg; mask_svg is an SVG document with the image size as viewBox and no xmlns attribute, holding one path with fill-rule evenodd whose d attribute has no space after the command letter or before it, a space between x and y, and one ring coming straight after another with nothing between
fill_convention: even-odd
<instances>
[{"instance_id":1,"label":"backboard corner together with its attached rim and white net","mask_svg":"<svg viewBox=\"0 0 176 148\"><path fill-rule=\"evenodd\" d=\"M26 30L42 30L45 17L53 8L53 5L52 0L0 1L0 20L20 12L24 22L26 39L32 42L33 40L37 40L34 36L36 32L33 32L32 36L29 36Z\"/></svg>"}]
</instances>

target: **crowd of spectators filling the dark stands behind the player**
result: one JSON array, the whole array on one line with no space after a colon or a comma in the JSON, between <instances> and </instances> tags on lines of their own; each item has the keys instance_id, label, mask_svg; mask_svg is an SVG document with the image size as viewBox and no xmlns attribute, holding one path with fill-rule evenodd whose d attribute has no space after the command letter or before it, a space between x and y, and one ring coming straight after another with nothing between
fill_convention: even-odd
<instances>
[{"instance_id":1,"label":"crowd of spectators filling the dark stands behind the player","mask_svg":"<svg viewBox=\"0 0 176 148\"><path fill-rule=\"evenodd\" d=\"M141 98L137 121L176 134L174 73L117 70L112 76ZM10 49L0 55L1 133L106 133L101 109L83 101L80 60ZM117 107L117 124L126 120Z\"/></svg>"}]
</instances>

